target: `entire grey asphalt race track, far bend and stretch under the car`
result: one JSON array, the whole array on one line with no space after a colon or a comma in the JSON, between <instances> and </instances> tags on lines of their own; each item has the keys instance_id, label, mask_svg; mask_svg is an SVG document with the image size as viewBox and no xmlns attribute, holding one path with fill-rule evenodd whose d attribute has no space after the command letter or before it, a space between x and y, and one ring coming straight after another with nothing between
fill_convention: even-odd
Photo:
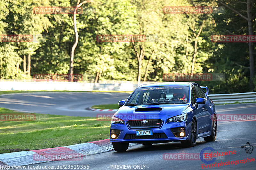
<instances>
[{"instance_id":1,"label":"entire grey asphalt race track, far bend and stretch under the car","mask_svg":"<svg viewBox=\"0 0 256 170\"><path fill-rule=\"evenodd\" d=\"M39 113L51 113L57 115L72 116L94 116L97 113L86 111L85 108L97 105L116 103L119 100L127 98L129 94L125 93L44 93L44 94L20 94L10 96L0 96L0 107L29 111ZM213 101L214 102L214 101ZM256 103L247 104L230 104L217 105L217 114L255 114ZM249 142L254 146L254 150L250 147L248 153L241 146ZM206 148L208 147L208 148ZM247 162L247 158L256 159L256 122L255 121L229 121L218 122L217 139L214 142L204 142L197 139L196 146L192 148L182 148L180 142L172 142L165 144L153 144L151 146L143 146L141 144L130 146L126 152L109 151L96 155L83 157L79 161L53 161L41 164L40 166L68 166L71 165L76 169L77 165L89 165L89 169L255 169L256 161ZM215 161L209 160L191 160L198 159L195 155L199 155L202 150L205 153L212 152L213 148L217 152L236 151L235 154L218 157ZM251 153L250 153L251 152ZM192 154L191 154L192 153ZM193 154L195 153L195 154ZM182 155L190 155L188 160L182 160ZM174 160L164 160L174 159ZM244 160L245 161L240 161ZM237 164L237 161L239 163ZM228 162L233 165L223 165L221 161ZM234 162L236 161L236 162ZM208 167L206 165L222 165L220 167ZM228 163L227 163L228 164ZM235 165L236 164L236 165ZM128 166L126 166L128 165ZM131 168L129 168L131 166ZM121 168L123 167L123 168ZM55 168L57 169L57 168ZM73 168L75 169L75 168Z\"/></svg>"}]
</instances>

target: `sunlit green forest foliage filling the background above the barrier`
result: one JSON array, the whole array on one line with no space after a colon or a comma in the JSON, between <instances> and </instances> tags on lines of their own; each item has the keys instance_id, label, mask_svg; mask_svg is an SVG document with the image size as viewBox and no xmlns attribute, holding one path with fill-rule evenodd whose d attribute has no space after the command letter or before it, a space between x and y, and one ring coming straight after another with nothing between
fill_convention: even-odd
<instances>
[{"instance_id":1,"label":"sunlit green forest foliage filling the background above the barrier","mask_svg":"<svg viewBox=\"0 0 256 170\"><path fill-rule=\"evenodd\" d=\"M83 1L81 1L83 2ZM246 4L227 1L244 16ZM245 1L244 1L245 2ZM74 44L73 14L34 14L36 6L76 6L69 0L0 0L0 34L42 34L39 42L0 42L0 77L24 79L33 74L67 74ZM252 11L256 11L253 1ZM211 93L252 91L249 86L247 43L215 43L212 35L248 34L247 21L226 8L225 13L165 14L164 6L221 6L204 0L94 0L77 15L79 41L74 73L84 80L162 81L163 74L225 74L225 81L198 82ZM254 15L255 18L255 15ZM255 19L253 28L255 28ZM202 32L196 38L202 27ZM144 34L153 42L97 42L97 35ZM196 53L195 53L196 46ZM31 55L31 73L24 73L23 56ZM148 68L146 70L146 68ZM147 71L147 73L146 73ZM145 76L146 75L146 76ZM255 90L255 89L254 89Z\"/></svg>"}]
</instances>

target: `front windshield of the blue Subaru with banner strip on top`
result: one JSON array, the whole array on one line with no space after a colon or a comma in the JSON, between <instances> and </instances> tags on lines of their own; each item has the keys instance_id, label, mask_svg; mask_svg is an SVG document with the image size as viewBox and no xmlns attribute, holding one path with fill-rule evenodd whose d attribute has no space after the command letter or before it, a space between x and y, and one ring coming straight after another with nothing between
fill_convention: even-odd
<instances>
[{"instance_id":1,"label":"front windshield of the blue Subaru with banner strip on top","mask_svg":"<svg viewBox=\"0 0 256 170\"><path fill-rule=\"evenodd\" d=\"M188 103L188 86L138 88L125 105L184 104Z\"/></svg>"}]
</instances>

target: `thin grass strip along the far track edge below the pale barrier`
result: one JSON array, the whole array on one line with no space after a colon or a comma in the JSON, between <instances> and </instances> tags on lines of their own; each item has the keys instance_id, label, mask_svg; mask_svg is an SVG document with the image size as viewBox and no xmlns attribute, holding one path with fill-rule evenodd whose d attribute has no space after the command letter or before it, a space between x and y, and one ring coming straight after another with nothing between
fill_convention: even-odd
<instances>
[{"instance_id":1,"label":"thin grass strip along the far track edge below the pale barrier","mask_svg":"<svg viewBox=\"0 0 256 170\"><path fill-rule=\"evenodd\" d=\"M53 90L53 91L46 91L46 90L40 90L40 91L0 91L0 95L3 94L11 94L11 93L35 93L35 92L109 92L109 93L132 93L132 91L100 91L100 90L92 90L92 91L68 91L68 90Z\"/></svg>"}]
</instances>

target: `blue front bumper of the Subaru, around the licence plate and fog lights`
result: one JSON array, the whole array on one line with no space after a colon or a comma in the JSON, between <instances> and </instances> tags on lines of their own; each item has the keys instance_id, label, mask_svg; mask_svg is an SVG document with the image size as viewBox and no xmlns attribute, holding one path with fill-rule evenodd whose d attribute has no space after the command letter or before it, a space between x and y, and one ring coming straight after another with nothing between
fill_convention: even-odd
<instances>
[{"instance_id":1,"label":"blue front bumper of the Subaru, around the licence plate and fog lights","mask_svg":"<svg viewBox=\"0 0 256 170\"><path fill-rule=\"evenodd\" d=\"M163 143L163 142L172 142L172 141L181 141L190 139L191 123L186 121L183 122L167 122L170 116L163 115L160 119L163 120L162 125L159 128L130 128L127 125L127 121L124 121L124 124L113 124L111 123L111 130L120 130L118 138L112 139L110 137L110 142L128 142L128 143L141 143L141 142L151 142L151 143ZM185 137L175 137L171 129L173 128L185 128ZM138 130L153 130L154 134L162 134L156 136L137 136L136 131ZM165 134L165 135L163 135ZM110 134L111 135L111 134ZM128 137L128 138L127 138ZM133 138L134 137L134 138ZM155 138L156 137L156 138ZM164 138L161 138L164 137Z\"/></svg>"}]
</instances>

